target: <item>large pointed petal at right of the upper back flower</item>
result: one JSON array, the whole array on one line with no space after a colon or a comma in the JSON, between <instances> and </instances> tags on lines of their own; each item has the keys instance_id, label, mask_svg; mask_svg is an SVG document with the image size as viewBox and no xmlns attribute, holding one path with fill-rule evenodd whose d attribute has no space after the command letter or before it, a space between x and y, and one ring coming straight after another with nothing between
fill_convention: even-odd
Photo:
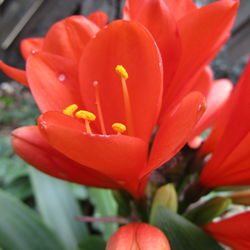
<instances>
[{"instance_id":1,"label":"large pointed petal at right of the upper back flower","mask_svg":"<svg viewBox=\"0 0 250 250\"><path fill-rule=\"evenodd\" d=\"M189 84L213 59L228 39L238 5L239 1L235 0L217 1L194 10L179 20L183 53L163 104L165 110L177 99L183 86Z\"/></svg>"}]
</instances>

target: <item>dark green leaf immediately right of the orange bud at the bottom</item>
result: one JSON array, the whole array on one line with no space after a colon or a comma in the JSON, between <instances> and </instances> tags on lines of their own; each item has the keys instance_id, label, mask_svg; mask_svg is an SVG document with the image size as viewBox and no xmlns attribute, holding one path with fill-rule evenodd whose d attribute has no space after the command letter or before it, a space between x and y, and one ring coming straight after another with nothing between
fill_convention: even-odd
<instances>
[{"instance_id":1,"label":"dark green leaf immediately right of the orange bud at the bottom","mask_svg":"<svg viewBox=\"0 0 250 250\"><path fill-rule=\"evenodd\" d=\"M167 208L159 207L151 223L167 236L171 250L222 250L202 229Z\"/></svg>"}]
</instances>

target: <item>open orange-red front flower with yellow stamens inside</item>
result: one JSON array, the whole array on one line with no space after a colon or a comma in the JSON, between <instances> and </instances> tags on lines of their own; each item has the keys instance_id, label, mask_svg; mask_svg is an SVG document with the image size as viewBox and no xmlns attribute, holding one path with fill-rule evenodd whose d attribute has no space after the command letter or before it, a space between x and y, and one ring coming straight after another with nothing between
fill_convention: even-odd
<instances>
[{"instance_id":1,"label":"open orange-red front flower with yellow stamens inside","mask_svg":"<svg viewBox=\"0 0 250 250\"><path fill-rule=\"evenodd\" d=\"M202 95L192 92L163 114L149 155L163 88L161 57L151 35L139 24L116 21L88 42L80 61L69 58L43 51L28 57L29 86L44 114L39 128L13 132L15 151L57 178L124 188L141 197L150 172L190 139L204 112ZM121 66L121 76L115 73L120 64L129 74L127 80ZM91 128L86 117L94 116L76 113L71 104L97 116ZM85 117L86 127L75 115ZM117 122L127 126L123 135L121 124L113 126L118 134L112 130Z\"/></svg>"}]
</instances>

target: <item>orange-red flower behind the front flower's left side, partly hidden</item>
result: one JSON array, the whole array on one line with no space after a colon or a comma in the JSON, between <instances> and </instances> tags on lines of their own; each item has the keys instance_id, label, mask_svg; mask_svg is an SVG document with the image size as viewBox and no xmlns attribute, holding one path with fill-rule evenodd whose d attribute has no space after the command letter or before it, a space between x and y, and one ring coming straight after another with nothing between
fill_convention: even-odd
<instances>
[{"instance_id":1,"label":"orange-red flower behind the front flower's left side, partly hidden","mask_svg":"<svg viewBox=\"0 0 250 250\"><path fill-rule=\"evenodd\" d=\"M45 38L28 38L21 42L21 54L26 60L37 51L49 52L72 60L78 60L87 42L99 31L98 26L106 24L103 12L93 13L89 19L83 16L71 16L55 23ZM90 21L91 20L91 21ZM96 25L98 24L98 26ZM74 41L72 41L74 37ZM24 70L16 69L0 61L0 69L9 77L28 87Z\"/></svg>"}]
</instances>

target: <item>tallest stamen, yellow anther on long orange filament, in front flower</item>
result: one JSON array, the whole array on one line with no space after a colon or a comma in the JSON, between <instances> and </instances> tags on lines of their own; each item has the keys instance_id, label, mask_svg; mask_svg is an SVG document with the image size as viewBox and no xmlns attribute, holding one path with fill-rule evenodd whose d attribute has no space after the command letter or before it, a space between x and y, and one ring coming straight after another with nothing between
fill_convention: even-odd
<instances>
[{"instance_id":1,"label":"tallest stamen, yellow anther on long orange filament, in front flower","mask_svg":"<svg viewBox=\"0 0 250 250\"><path fill-rule=\"evenodd\" d=\"M126 115L127 126L128 126L128 134L133 136L134 135L133 116L132 116L132 109L131 109L131 104L130 104L128 87L126 83L126 79L128 79L128 73L122 65L117 65L115 67L115 70L121 76L122 93L123 93L125 115Z\"/></svg>"}]
</instances>

